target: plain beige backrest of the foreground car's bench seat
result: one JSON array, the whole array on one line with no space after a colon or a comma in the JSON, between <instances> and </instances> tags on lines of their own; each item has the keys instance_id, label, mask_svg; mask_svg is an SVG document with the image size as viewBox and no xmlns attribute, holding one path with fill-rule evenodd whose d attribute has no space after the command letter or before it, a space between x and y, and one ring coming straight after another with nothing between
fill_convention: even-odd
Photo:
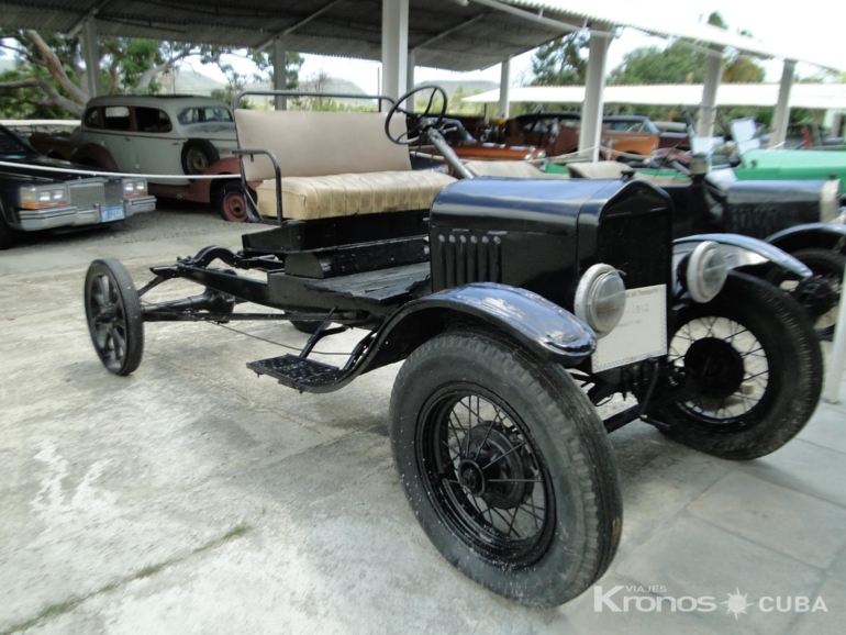
<instances>
[{"instance_id":1,"label":"plain beige backrest of the foreground car's bench seat","mask_svg":"<svg viewBox=\"0 0 846 635\"><path fill-rule=\"evenodd\" d=\"M409 171L407 146L385 134L383 112L323 112L292 110L235 111L238 146L274 153L282 177ZM403 116L391 121L391 134L405 132ZM244 157L248 181L275 177L270 159Z\"/></svg>"}]
</instances>

